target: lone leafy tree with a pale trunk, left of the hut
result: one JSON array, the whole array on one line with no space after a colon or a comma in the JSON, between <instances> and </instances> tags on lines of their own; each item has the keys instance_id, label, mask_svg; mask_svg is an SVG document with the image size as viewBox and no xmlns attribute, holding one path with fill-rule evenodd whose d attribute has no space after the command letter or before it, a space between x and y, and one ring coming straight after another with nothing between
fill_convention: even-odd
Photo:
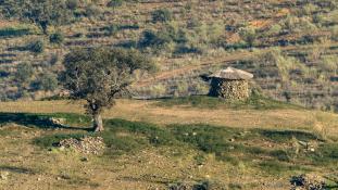
<instances>
[{"instance_id":1,"label":"lone leafy tree with a pale trunk, left of the hut","mask_svg":"<svg viewBox=\"0 0 338 190\"><path fill-rule=\"evenodd\" d=\"M114 105L115 98L129 93L136 71L155 71L154 64L136 50L77 49L65 55L60 81L73 100L86 100L93 130L102 131L101 113Z\"/></svg>"}]
</instances>

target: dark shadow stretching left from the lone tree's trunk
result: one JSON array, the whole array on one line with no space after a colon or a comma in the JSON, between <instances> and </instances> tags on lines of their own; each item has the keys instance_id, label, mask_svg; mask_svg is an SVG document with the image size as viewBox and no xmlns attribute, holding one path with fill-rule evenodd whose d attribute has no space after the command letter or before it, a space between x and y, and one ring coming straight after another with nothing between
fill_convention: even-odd
<instances>
[{"instance_id":1,"label":"dark shadow stretching left from the lone tree's trunk","mask_svg":"<svg viewBox=\"0 0 338 190\"><path fill-rule=\"evenodd\" d=\"M27 127L41 129L72 129L72 130L92 130L91 128L71 127L63 124L55 124L50 115L39 115L29 113L0 113L0 126L7 123L14 123Z\"/></svg>"}]
</instances>

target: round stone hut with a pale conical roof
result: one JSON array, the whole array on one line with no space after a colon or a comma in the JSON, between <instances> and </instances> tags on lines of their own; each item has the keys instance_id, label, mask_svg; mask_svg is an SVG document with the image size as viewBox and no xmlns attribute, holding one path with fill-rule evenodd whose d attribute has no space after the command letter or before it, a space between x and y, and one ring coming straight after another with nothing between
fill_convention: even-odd
<instances>
[{"instance_id":1,"label":"round stone hut with a pale conical roof","mask_svg":"<svg viewBox=\"0 0 338 190\"><path fill-rule=\"evenodd\" d=\"M221 69L211 78L210 96L229 100L246 100L249 98L249 83L253 75L233 67Z\"/></svg>"}]
</instances>

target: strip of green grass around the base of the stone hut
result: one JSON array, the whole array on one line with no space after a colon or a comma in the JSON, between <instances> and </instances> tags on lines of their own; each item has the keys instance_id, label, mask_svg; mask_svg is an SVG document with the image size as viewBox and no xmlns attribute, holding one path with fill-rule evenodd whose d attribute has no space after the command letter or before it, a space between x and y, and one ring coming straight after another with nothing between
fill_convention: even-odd
<instances>
[{"instance_id":1,"label":"strip of green grass around the base of the stone hut","mask_svg":"<svg viewBox=\"0 0 338 190\"><path fill-rule=\"evenodd\" d=\"M157 103L160 106L189 105L200 109L253 109L253 110L275 110L275 109L301 109L299 105L276 101L262 96L251 96L245 101L229 101L221 98L206 96L192 96L174 99L162 99Z\"/></svg>"}]
</instances>

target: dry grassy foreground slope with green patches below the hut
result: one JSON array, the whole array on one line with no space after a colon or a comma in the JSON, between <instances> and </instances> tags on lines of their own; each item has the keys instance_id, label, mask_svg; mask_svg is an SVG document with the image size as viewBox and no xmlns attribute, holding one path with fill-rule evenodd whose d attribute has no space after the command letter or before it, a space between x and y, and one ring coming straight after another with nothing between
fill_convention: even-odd
<instances>
[{"instance_id":1,"label":"dry grassy foreground slope with green patches below the hut","mask_svg":"<svg viewBox=\"0 0 338 190\"><path fill-rule=\"evenodd\" d=\"M86 130L90 118L80 114L79 102L1 103L0 172L5 177L0 189L164 190L185 185L284 190L299 174L322 176L328 188L337 187L336 114L281 102L231 110L216 100L196 99L120 100L105 112L107 130L100 134ZM64 125L50 118L62 118ZM53 145L84 136L102 137L104 153Z\"/></svg>"}]
</instances>

